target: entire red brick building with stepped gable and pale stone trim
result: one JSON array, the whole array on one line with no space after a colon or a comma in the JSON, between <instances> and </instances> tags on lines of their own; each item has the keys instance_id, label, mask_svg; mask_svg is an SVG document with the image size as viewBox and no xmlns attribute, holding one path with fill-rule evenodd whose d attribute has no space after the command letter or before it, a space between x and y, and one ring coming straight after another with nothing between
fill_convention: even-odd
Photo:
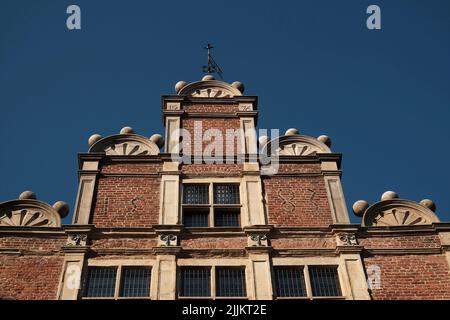
<instances>
[{"instance_id":1,"label":"entire red brick building with stepped gable and pale stone trim","mask_svg":"<svg viewBox=\"0 0 450 320\"><path fill-rule=\"evenodd\" d=\"M1 203L0 298L450 299L450 224L433 202L385 192L350 223L330 139L258 141L243 91L179 82L164 138L91 136L70 225L64 202Z\"/></svg>"}]
</instances>

